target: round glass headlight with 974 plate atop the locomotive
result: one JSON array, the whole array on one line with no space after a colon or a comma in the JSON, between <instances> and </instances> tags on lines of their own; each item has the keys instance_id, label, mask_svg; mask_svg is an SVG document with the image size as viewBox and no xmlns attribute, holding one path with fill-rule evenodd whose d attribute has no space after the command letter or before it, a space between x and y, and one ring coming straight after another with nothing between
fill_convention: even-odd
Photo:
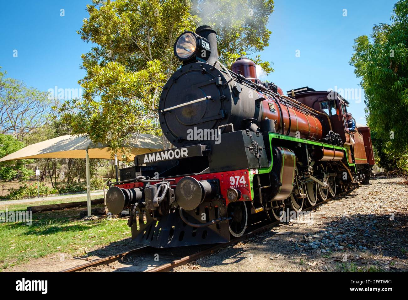
<instances>
[{"instance_id":1,"label":"round glass headlight with 974 plate atop the locomotive","mask_svg":"<svg viewBox=\"0 0 408 300\"><path fill-rule=\"evenodd\" d=\"M207 60L210 56L210 43L205 38L192 31L186 31L179 36L174 44L174 54L182 61Z\"/></svg>"}]
</instances>

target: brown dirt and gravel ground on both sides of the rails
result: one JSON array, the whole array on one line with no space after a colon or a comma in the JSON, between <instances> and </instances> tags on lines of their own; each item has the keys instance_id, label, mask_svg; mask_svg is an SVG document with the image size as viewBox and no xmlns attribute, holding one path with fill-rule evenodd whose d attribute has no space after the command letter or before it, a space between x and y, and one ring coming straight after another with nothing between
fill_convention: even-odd
<instances>
[{"instance_id":1,"label":"brown dirt and gravel ground on both sides of the rails","mask_svg":"<svg viewBox=\"0 0 408 300\"><path fill-rule=\"evenodd\" d=\"M304 218L174 271L408 271L405 181L377 176L370 185L323 204ZM54 253L7 271L61 271L137 246L126 238L93 249L88 257Z\"/></svg>"}]
</instances>

